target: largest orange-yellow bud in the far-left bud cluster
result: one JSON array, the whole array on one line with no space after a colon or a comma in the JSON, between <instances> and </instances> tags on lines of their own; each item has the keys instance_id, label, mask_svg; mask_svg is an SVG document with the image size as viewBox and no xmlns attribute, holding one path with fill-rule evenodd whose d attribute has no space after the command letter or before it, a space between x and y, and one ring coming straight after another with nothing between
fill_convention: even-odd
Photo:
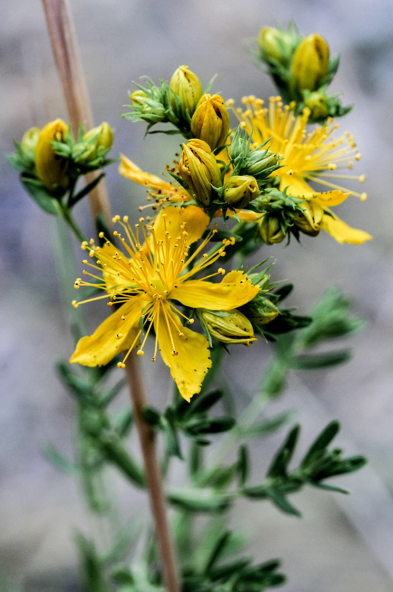
<instances>
[{"instance_id":1,"label":"largest orange-yellow bud in the far-left bud cluster","mask_svg":"<svg viewBox=\"0 0 393 592\"><path fill-rule=\"evenodd\" d=\"M50 144L52 141L62 141L67 130L67 124L62 119L56 119L47 123L38 137L36 149L37 175L49 191L53 191L56 185L59 185L62 189L67 189L69 186L68 161L55 154Z\"/></svg>"}]
</instances>

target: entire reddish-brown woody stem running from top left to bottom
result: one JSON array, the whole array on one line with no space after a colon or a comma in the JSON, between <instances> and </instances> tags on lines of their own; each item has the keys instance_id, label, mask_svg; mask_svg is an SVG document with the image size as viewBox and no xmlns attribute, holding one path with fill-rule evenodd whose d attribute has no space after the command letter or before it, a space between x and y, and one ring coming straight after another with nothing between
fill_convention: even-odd
<instances>
[{"instance_id":1,"label":"entire reddish-brown woody stem running from top left to bottom","mask_svg":"<svg viewBox=\"0 0 393 592\"><path fill-rule=\"evenodd\" d=\"M76 42L69 3L67 0L42 0L42 2L54 59L63 86L63 94L65 96L70 124L74 134L76 134L81 123L85 123L87 128L93 127L93 119L86 83L80 65L78 44ZM88 175L86 175L87 177ZM92 181L92 178L87 179L87 181ZM90 192L89 200L94 221L96 220L96 216L102 213L108 227L110 227L109 200L103 181ZM75 228L73 230L75 231ZM78 233L76 234L78 236ZM78 236L78 238L80 237ZM163 495L162 480L157 461L154 433L151 427L144 421L142 414L143 406L146 404L146 394L140 374L140 365L137 363L135 356L128 356L125 372L130 387L131 401L134 406L136 426L143 453L150 505L152 507L162 560L163 580L167 592L180 592L175 550L167 522L165 497Z\"/></svg>"}]
</instances>

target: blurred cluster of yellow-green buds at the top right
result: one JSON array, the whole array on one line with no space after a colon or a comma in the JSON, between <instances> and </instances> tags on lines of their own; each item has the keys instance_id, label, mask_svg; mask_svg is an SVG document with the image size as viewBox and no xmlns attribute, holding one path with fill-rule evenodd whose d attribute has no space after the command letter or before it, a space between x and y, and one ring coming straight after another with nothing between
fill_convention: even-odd
<instances>
[{"instance_id":1,"label":"blurred cluster of yellow-green buds at the top right","mask_svg":"<svg viewBox=\"0 0 393 592\"><path fill-rule=\"evenodd\" d=\"M330 57L327 41L318 33L302 37L291 23L288 31L263 27L258 36L258 58L286 102L295 101L297 111L308 107L311 120L324 121L350 111L339 100L339 94L327 94L327 86L339 67L339 56Z\"/></svg>"}]
</instances>

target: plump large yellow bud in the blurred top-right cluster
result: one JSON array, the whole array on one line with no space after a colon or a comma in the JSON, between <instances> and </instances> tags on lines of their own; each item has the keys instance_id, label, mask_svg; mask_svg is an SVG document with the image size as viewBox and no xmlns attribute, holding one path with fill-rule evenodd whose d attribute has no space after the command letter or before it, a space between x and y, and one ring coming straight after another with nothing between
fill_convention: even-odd
<instances>
[{"instance_id":1,"label":"plump large yellow bud in the blurred top-right cluster","mask_svg":"<svg viewBox=\"0 0 393 592\"><path fill-rule=\"evenodd\" d=\"M315 91L329 70L329 46L317 33L299 43L292 59L292 75L300 90Z\"/></svg>"}]
</instances>

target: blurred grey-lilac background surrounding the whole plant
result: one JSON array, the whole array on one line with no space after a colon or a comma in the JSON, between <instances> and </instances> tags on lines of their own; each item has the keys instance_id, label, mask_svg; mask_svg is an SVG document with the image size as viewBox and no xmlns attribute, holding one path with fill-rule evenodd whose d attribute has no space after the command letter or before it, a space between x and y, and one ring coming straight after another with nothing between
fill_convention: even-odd
<instances>
[{"instance_id":1,"label":"blurred grey-lilac background surrounding the whole plant","mask_svg":"<svg viewBox=\"0 0 393 592\"><path fill-rule=\"evenodd\" d=\"M368 176L362 190L369 197L365 203L349 198L337 212L374 240L346 246L321 233L317 239L304 237L302 246L293 242L263 253L277 259L273 279L295 282L289 304L301 313L324 289L337 285L353 294L354 310L368 320L368 328L346 340L355 351L349 365L317 375L294 374L285 397L268 413L297 407L304 424L303 448L324 423L339 417L343 432L338 443L351 453L365 453L370 462L343 483L353 491L345 500L314 490L297 496L301 520L283 516L267 503L246 502L236 507L233 520L250 529L257 558L282 557L288 592L392 590L392 2L73 0L71 5L95 122L106 120L115 128L115 154L124 152L156 174L172 158L179 139L144 139L143 124L119 117L138 76L169 79L184 63L204 86L218 73L214 90L224 98L240 102L242 95L255 94L266 99L276 91L244 52L243 40L256 36L262 25L291 18L304 34L317 31L332 53L340 52L339 72L330 88L343 91L346 104L356 104L340 121L340 130L355 136L363 156L356 170ZM12 138L20 139L28 127L67 117L41 3L1 0L0 7L4 155L12 150ZM121 178L116 165L108 169L107 182L115 213L131 214L136 204L144 203L143 188ZM57 279L51 246L62 229L28 198L4 157L0 191L0 572L28 592L76 590L73 527L89 533L91 525L76 484L40 454L47 440L72 451L73 403L52 369L55 359L71 352L69 295ZM88 204L80 204L76 214L91 233ZM76 255L79 262L80 251ZM78 263L78 274L79 269ZM101 313L96 307L83 313L93 329ZM252 350L241 348L236 369L228 363L240 404L255 391L268 355L269 346L259 342ZM169 372L157 364L153 373L148 363L148 383L159 391L156 404L163 407ZM266 468L280 437L256 443L256 474ZM123 520L146 508L144 496L115 473L109 477Z\"/></svg>"}]
</instances>

